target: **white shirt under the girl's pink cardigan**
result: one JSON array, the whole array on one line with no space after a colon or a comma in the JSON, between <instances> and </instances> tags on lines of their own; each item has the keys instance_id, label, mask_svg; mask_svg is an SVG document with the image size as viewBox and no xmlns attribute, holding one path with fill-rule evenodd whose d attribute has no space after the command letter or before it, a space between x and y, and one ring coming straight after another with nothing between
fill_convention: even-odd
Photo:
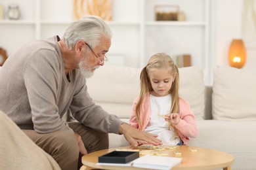
<instances>
[{"instance_id":1,"label":"white shirt under the girl's pink cardigan","mask_svg":"<svg viewBox=\"0 0 256 170\"><path fill-rule=\"evenodd\" d=\"M175 133L172 129L169 129L169 122L165 121L165 118L158 116L158 114L165 115L170 113L171 95L156 97L150 94L150 109L150 122L145 132L158 135L158 139L161 139L163 144L178 144L179 138L174 138Z\"/></svg>"}]
</instances>

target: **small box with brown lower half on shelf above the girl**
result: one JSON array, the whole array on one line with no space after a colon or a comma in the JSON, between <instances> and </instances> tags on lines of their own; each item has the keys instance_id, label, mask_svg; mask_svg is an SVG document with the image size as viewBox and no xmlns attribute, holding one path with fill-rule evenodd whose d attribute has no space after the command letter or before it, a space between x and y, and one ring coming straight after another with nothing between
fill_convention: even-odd
<instances>
[{"instance_id":1,"label":"small box with brown lower half on shelf above the girl","mask_svg":"<svg viewBox=\"0 0 256 170\"><path fill-rule=\"evenodd\" d=\"M177 21L179 7L177 5L156 5L155 13L157 21Z\"/></svg>"}]
</instances>

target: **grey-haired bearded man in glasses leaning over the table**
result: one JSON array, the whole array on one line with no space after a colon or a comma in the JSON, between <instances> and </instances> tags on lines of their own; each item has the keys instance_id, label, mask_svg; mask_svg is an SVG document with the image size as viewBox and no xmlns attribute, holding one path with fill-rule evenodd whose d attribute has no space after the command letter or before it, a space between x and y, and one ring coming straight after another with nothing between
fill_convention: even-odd
<instances>
[{"instance_id":1,"label":"grey-haired bearded man in glasses leaning over the table","mask_svg":"<svg viewBox=\"0 0 256 170\"><path fill-rule=\"evenodd\" d=\"M108 148L108 133L123 134L133 146L161 144L156 135L108 114L87 93L86 78L104 65L111 37L102 19L87 16L70 24L62 39L28 42L1 69L0 110L61 169L79 168L79 153ZM68 109L78 122L62 120Z\"/></svg>"}]
</instances>

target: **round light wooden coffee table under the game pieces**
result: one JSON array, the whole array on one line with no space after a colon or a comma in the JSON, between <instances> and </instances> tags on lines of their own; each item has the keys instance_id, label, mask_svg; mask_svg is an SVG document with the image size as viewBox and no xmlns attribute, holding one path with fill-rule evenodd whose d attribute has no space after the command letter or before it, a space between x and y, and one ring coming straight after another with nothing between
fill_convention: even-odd
<instances>
[{"instance_id":1,"label":"round light wooden coffee table under the game pieces","mask_svg":"<svg viewBox=\"0 0 256 170\"><path fill-rule=\"evenodd\" d=\"M121 148L131 148L130 146L121 147ZM197 150L197 152L192 152L192 150ZM96 165L98 163L98 156L112 152L116 148L110 148L105 150L99 150L92 152L82 157L83 166L80 170L89 170L89 169L141 169L136 167L118 167L118 166L104 166ZM174 151L181 152L181 156L174 154ZM231 154L222 152L219 150L213 150L210 148L201 148L195 146L177 146L173 150L162 150L158 151L159 153L168 154L168 156L182 158L179 165L173 167L175 169L216 169L223 168L224 170L230 170L231 165L234 162L234 157Z\"/></svg>"}]
</instances>

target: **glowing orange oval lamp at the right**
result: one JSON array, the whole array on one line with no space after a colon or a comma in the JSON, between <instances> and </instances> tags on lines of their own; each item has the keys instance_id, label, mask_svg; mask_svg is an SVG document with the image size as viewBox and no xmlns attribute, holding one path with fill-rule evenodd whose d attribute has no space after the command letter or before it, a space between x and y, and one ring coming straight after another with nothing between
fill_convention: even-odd
<instances>
[{"instance_id":1,"label":"glowing orange oval lamp at the right","mask_svg":"<svg viewBox=\"0 0 256 170\"><path fill-rule=\"evenodd\" d=\"M242 39L234 39L229 48L228 62L231 67L238 69L244 66L246 60L245 46Z\"/></svg>"}]
</instances>

